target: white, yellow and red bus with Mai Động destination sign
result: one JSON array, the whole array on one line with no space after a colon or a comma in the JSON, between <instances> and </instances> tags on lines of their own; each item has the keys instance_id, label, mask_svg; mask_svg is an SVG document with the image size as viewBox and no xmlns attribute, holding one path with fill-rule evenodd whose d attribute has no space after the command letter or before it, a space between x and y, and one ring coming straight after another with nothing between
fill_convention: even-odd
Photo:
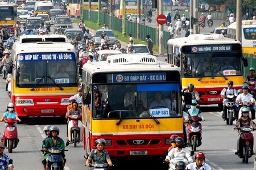
<instances>
[{"instance_id":1,"label":"white, yellow and red bus with Mai \u0110\u1ed9ng destination sign","mask_svg":"<svg viewBox=\"0 0 256 170\"><path fill-rule=\"evenodd\" d=\"M237 90L243 86L241 42L218 34L195 34L167 42L167 61L180 67L182 87L193 83L199 92L199 104L218 104L220 93L233 80Z\"/></svg>"}]
</instances>

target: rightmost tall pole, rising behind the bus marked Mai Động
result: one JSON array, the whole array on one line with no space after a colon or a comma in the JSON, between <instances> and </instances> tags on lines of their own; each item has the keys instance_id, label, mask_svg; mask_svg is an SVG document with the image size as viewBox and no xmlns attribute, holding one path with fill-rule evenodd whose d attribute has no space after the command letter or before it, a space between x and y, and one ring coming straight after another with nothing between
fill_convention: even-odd
<instances>
[{"instance_id":1,"label":"rightmost tall pole, rising behind the bus marked Mai \u0110\u1ed9ng","mask_svg":"<svg viewBox=\"0 0 256 170\"><path fill-rule=\"evenodd\" d=\"M239 40L242 44L242 0L237 0L237 32L236 32L236 39Z\"/></svg>"}]
</instances>

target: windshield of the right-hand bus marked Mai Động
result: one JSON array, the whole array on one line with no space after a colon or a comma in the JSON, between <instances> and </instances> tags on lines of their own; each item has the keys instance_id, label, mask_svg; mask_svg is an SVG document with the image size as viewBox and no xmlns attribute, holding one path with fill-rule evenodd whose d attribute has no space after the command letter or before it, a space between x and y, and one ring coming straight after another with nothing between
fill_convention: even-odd
<instances>
[{"instance_id":1,"label":"windshield of the right-hand bus marked Mai \u0110\u1ed9ng","mask_svg":"<svg viewBox=\"0 0 256 170\"><path fill-rule=\"evenodd\" d=\"M241 75L241 53L183 54L183 76Z\"/></svg>"}]
</instances>

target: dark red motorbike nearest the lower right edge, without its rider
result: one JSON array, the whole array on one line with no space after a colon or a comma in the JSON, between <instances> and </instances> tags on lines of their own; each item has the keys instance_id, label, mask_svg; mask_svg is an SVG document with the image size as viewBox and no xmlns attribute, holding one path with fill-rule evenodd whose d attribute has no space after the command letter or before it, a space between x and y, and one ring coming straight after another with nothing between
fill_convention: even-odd
<instances>
[{"instance_id":1,"label":"dark red motorbike nearest the lower right edge, without its rider","mask_svg":"<svg viewBox=\"0 0 256 170\"><path fill-rule=\"evenodd\" d=\"M238 151L235 152L235 155L238 155L239 158L242 159L242 162L248 163L248 159L253 156L253 128L250 126L243 126L242 128L237 128L239 138Z\"/></svg>"}]
</instances>

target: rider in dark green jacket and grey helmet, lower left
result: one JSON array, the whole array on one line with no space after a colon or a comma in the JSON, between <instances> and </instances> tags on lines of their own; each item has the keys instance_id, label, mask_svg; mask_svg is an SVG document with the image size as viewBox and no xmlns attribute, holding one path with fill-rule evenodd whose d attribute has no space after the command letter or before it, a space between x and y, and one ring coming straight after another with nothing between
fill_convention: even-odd
<instances>
[{"instance_id":1,"label":"rider in dark green jacket and grey helmet, lower left","mask_svg":"<svg viewBox=\"0 0 256 170\"><path fill-rule=\"evenodd\" d=\"M49 152L46 152L48 149L51 149L52 147L58 147L60 150L64 150L65 148L65 143L63 141L63 139L61 139L60 137L58 137L59 133L60 133L60 129L57 126L51 126L51 128L49 129L51 137L46 139L46 144L43 145L43 152L44 152L44 156L43 158L46 159L47 164L48 164L48 156L51 154ZM64 160L64 165L65 165L65 155L64 153L62 154L63 156L63 160ZM61 169L64 168L61 167ZM46 165L46 170L47 170L47 165Z\"/></svg>"}]
</instances>

